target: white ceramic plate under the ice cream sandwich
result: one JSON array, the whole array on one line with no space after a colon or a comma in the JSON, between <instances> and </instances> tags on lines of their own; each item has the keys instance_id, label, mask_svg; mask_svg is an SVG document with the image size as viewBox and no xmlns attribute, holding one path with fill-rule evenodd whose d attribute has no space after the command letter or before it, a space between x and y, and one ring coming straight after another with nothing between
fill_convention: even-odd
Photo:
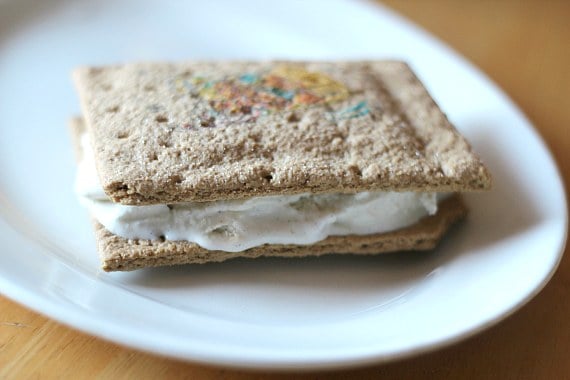
<instances>
[{"instance_id":1,"label":"white ceramic plate under the ice cream sandwich","mask_svg":"<svg viewBox=\"0 0 570 380\"><path fill-rule=\"evenodd\" d=\"M457 341L534 296L567 228L557 169L484 75L383 8L349 1L0 4L0 289L146 351L237 367L386 361ZM409 61L495 178L434 252L236 260L105 274L72 193L80 64L192 58Z\"/></svg>"}]
</instances>

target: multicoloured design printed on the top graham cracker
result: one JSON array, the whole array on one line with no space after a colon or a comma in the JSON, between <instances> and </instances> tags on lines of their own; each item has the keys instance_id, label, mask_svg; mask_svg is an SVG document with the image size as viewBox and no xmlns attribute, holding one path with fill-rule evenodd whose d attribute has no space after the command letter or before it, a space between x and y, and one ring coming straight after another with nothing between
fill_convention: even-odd
<instances>
[{"instance_id":1,"label":"multicoloured design printed on the top graham cracker","mask_svg":"<svg viewBox=\"0 0 570 380\"><path fill-rule=\"evenodd\" d=\"M206 100L212 116L255 120L262 115L316 105L328 106L349 98L342 83L299 66L281 65L266 73L244 73L219 80L194 76L176 82L179 91L190 91ZM366 102L335 112L337 119L369 113Z\"/></svg>"}]
</instances>

